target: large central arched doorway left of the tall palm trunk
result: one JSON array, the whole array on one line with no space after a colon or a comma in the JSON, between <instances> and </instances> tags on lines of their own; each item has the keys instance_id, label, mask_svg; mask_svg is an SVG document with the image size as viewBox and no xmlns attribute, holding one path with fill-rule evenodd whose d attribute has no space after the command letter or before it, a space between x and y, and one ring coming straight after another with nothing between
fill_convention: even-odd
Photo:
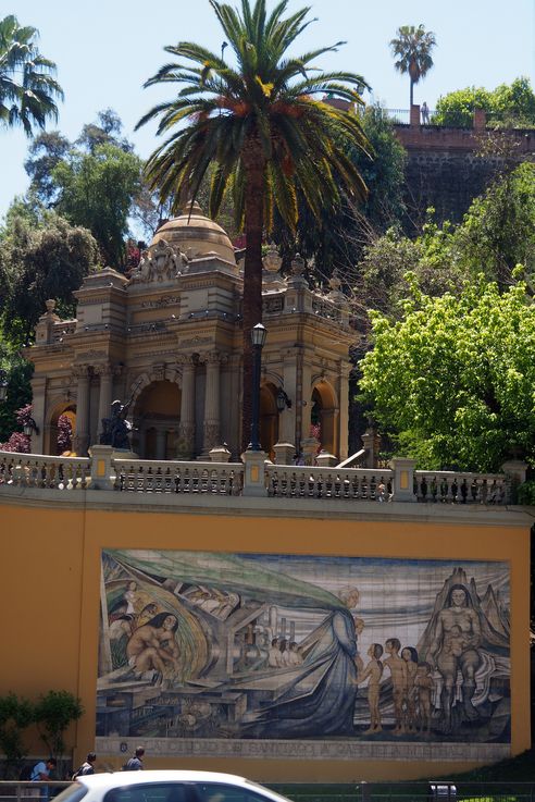
<instances>
[{"instance_id":1,"label":"large central arched doorway left of the tall palm trunk","mask_svg":"<svg viewBox=\"0 0 535 802\"><path fill-rule=\"evenodd\" d=\"M134 407L133 449L141 459L176 459L181 390L169 381L152 382Z\"/></svg>"}]
</instances>

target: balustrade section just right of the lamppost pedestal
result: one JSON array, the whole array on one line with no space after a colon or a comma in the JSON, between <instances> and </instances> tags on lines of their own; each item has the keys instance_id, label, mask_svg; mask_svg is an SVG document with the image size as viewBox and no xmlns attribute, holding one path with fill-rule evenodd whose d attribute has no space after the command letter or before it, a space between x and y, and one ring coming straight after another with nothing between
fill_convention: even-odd
<instances>
[{"instance_id":1,"label":"balustrade section just right of the lamppost pedestal","mask_svg":"<svg viewBox=\"0 0 535 802\"><path fill-rule=\"evenodd\" d=\"M268 495L278 498L346 498L386 502L391 495L390 469L313 468L269 465Z\"/></svg>"}]
</instances>

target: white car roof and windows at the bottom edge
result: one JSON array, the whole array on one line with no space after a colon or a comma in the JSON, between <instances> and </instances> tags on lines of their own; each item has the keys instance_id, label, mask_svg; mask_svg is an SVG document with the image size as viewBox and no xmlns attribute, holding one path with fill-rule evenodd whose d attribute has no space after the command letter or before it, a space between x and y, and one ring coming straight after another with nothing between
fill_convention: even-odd
<instances>
[{"instance_id":1,"label":"white car roof and windows at the bottom edge","mask_svg":"<svg viewBox=\"0 0 535 802\"><path fill-rule=\"evenodd\" d=\"M114 772L78 777L54 802L289 802L245 777L215 772Z\"/></svg>"}]
</instances>

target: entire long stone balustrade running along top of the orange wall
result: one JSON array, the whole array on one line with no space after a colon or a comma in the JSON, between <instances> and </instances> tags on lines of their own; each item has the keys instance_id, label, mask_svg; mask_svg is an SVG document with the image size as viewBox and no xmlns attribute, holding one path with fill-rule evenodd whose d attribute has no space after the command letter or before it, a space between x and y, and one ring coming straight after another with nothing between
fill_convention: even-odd
<instances>
[{"instance_id":1,"label":"entire long stone balustrade running along top of the orange wall","mask_svg":"<svg viewBox=\"0 0 535 802\"><path fill-rule=\"evenodd\" d=\"M213 457L221 459L219 449ZM410 459L394 459L390 468L312 467L273 464L263 452L246 452L244 462L147 460L92 446L90 457L0 452L0 493L33 488L505 506L512 502L512 481L522 481L518 471L525 468L508 465L511 470L505 466L503 473L414 470Z\"/></svg>"}]
</instances>

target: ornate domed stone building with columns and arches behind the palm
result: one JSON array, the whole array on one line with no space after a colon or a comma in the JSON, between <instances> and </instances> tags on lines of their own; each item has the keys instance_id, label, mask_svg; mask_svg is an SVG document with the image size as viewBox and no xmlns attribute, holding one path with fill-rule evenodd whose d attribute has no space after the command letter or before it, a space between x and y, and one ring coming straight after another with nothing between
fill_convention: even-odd
<instances>
[{"instance_id":1,"label":"ornate domed stone building with columns and arches behind the palm","mask_svg":"<svg viewBox=\"0 0 535 802\"><path fill-rule=\"evenodd\" d=\"M322 448L343 460L349 310L336 277L320 293L302 259L287 279L279 261L273 249L264 259L261 444L272 454L277 442L313 453L314 424ZM119 397L130 402L139 457L208 457L225 444L238 458L242 275L223 229L194 205L158 231L129 279L105 268L75 295L75 320L61 320L49 301L37 325L32 451L58 453L58 419L67 414L73 448L85 455Z\"/></svg>"}]
</instances>

